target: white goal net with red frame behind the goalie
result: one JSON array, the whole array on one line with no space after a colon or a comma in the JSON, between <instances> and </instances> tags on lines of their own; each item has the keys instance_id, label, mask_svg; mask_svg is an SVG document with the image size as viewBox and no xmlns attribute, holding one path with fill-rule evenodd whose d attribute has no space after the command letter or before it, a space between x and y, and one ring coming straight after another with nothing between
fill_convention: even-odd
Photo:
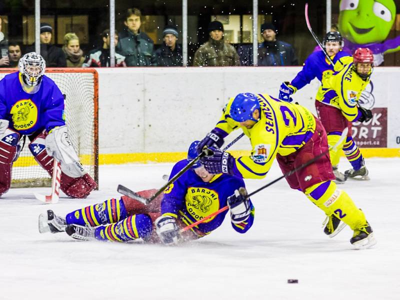
<instances>
[{"instance_id":1,"label":"white goal net with red frame behind the goalie","mask_svg":"<svg viewBox=\"0 0 400 300\"><path fill-rule=\"evenodd\" d=\"M0 70L0 79L15 69ZM65 97L65 122L85 170L98 185L98 76L91 68L51 68L45 75ZM23 142L22 142L23 143ZM50 186L51 178L34 160L25 143L13 163L11 187Z\"/></svg>"}]
</instances>

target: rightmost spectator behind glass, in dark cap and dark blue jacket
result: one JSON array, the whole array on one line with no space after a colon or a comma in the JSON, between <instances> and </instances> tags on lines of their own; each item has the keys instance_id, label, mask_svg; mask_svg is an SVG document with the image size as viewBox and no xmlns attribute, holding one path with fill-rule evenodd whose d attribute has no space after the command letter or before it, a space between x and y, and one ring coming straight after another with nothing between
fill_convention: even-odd
<instances>
[{"instance_id":1,"label":"rightmost spectator behind glass, in dark cap and dark blue jacket","mask_svg":"<svg viewBox=\"0 0 400 300\"><path fill-rule=\"evenodd\" d=\"M258 65L298 65L293 46L276 39L272 23L263 23L261 34L264 41L258 45Z\"/></svg>"}]
</instances>

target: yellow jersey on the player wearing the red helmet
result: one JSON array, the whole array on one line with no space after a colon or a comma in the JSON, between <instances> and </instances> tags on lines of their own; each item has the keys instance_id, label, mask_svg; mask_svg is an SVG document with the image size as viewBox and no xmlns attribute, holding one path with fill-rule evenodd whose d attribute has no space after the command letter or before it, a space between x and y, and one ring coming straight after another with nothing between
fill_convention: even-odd
<instances>
[{"instance_id":1,"label":"yellow jersey on the player wearing the red helmet","mask_svg":"<svg viewBox=\"0 0 400 300\"><path fill-rule=\"evenodd\" d=\"M369 83L369 77L363 80L354 71L352 60L351 56L341 57L334 65L335 72L322 78L322 88L316 95L316 100L340 109L349 121L357 117L359 96Z\"/></svg>"}]
</instances>

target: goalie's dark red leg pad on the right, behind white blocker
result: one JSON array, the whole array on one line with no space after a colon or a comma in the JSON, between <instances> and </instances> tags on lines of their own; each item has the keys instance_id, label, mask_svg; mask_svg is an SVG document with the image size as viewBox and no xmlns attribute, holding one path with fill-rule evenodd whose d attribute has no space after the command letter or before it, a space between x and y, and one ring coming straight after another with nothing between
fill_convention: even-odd
<instances>
[{"instance_id":1,"label":"goalie's dark red leg pad on the right, behind white blocker","mask_svg":"<svg viewBox=\"0 0 400 300\"><path fill-rule=\"evenodd\" d=\"M29 150L37 163L43 167L47 173L53 174L53 157L49 156L45 147L46 133L43 131L29 143ZM85 173L80 177L71 177L64 173L61 163L61 190L72 198L85 198L90 191L97 187L96 182Z\"/></svg>"}]
</instances>

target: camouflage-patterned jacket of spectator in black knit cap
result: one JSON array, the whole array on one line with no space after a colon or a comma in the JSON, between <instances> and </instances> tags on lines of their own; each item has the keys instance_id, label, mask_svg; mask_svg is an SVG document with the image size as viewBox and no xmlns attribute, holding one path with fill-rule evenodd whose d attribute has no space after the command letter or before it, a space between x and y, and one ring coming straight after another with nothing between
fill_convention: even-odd
<instances>
[{"instance_id":1,"label":"camouflage-patterned jacket of spectator in black knit cap","mask_svg":"<svg viewBox=\"0 0 400 300\"><path fill-rule=\"evenodd\" d=\"M228 66L240 65L236 49L222 39L210 38L194 53L194 66Z\"/></svg>"}]
</instances>

